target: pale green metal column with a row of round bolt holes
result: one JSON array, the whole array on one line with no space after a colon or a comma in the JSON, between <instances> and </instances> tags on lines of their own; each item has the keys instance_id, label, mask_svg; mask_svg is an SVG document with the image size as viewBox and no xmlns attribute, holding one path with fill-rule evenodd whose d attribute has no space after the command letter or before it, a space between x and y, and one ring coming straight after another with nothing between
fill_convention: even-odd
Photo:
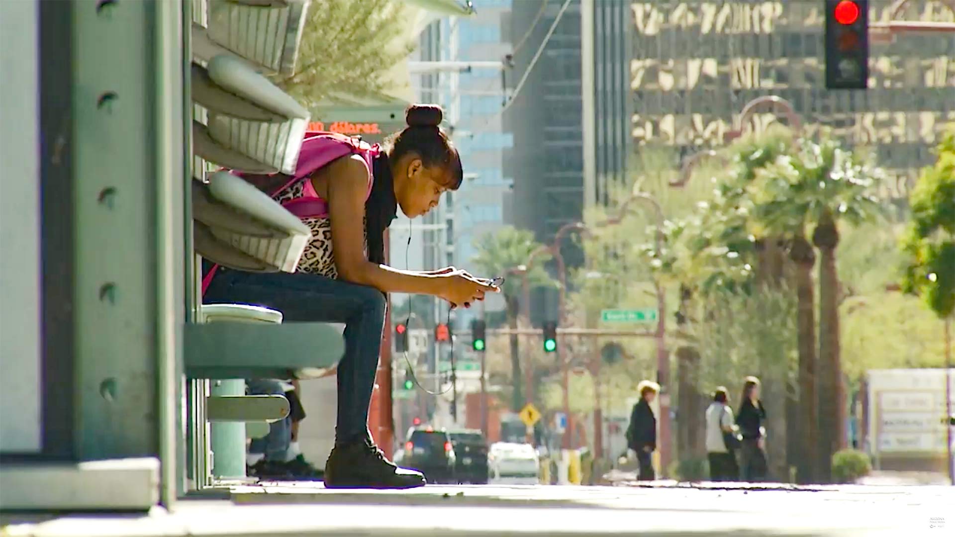
<instances>
[{"instance_id":1,"label":"pale green metal column with a row of round bolt holes","mask_svg":"<svg viewBox=\"0 0 955 537\"><path fill-rule=\"evenodd\" d=\"M74 129L47 138L74 157L75 453L159 458L168 505L184 304L180 3L82 0L73 14Z\"/></svg>"}]
</instances>

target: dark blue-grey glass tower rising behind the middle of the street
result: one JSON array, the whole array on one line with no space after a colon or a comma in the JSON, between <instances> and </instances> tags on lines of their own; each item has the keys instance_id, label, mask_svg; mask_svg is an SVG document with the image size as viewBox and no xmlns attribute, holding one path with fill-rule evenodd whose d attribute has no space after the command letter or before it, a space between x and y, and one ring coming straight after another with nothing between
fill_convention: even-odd
<instances>
[{"instance_id":1,"label":"dark blue-grey glass tower rising behind the middle of the street","mask_svg":"<svg viewBox=\"0 0 955 537\"><path fill-rule=\"evenodd\" d=\"M581 2L571 0L536 63L534 56L562 11L563 2L515 2L506 23L515 43L514 66L507 72L513 91L526 80L504 114L504 128L514 135L515 149L505 169L515 178L508 222L534 231L548 244L555 233L584 217L584 200L606 199L606 183L622 181L630 154L631 99L629 59L632 13L625 0L594 2L595 167L599 178L584 183L584 139L581 63ZM533 63L533 69L531 65ZM528 72L528 69L531 69ZM585 192L593 188L594 192ZM568 267L583 263L583 252L564 241ZM555 319L556 292L537 290L531 318L540 324Z\"/></svg>"}]
</instances>

